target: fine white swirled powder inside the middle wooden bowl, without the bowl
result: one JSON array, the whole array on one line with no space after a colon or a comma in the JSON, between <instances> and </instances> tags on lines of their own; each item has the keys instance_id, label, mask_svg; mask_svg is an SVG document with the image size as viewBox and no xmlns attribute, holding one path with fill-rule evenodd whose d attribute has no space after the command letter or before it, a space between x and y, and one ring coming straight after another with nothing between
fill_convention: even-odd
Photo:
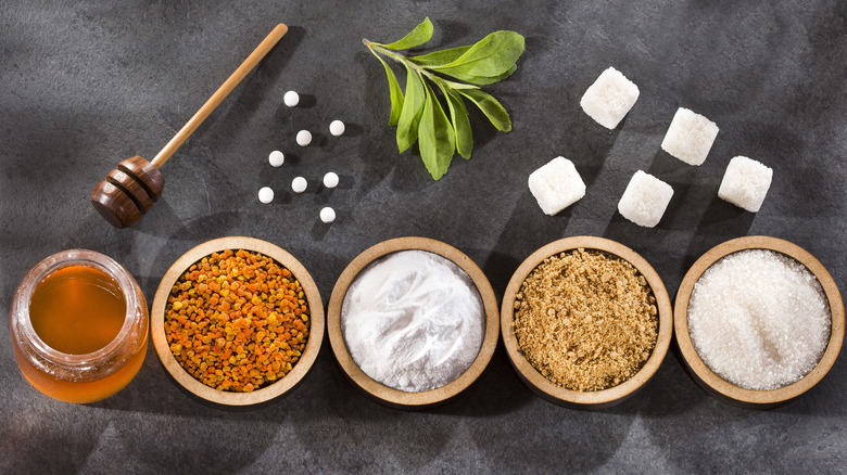
<instances>
[{"instance_id":1,"label":"fine white swirled powder inside the middle wooden bowl, without the bowl","mask_svg":"<svg viewBox=\"0 0 847 475\"><path fill-rule=\"evenodd\" d=\"M341 332L365 374L418 393L470 368L482 347L485 312L473 281L455 262L400 251L370 264L350 285Z\"/></svg>"}]
</instances>

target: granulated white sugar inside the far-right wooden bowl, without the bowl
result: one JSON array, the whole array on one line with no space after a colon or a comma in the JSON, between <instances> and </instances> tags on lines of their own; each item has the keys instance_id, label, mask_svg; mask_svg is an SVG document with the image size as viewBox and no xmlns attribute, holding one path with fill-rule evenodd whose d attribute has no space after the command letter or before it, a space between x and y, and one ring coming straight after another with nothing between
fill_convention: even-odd
<instances>
[{"instance_id":1,"label":"granulated white sugar inside the far-right wooden bowl, without the bowl","mask_svg":"<svg viewBox=\"0 0 847 475\"><path fill-rule=\"evenodd\" d=\"M776 389L808 374L826 349L831 325L814 275L767 249L713 264L688 301L697 355L718 376L747 389Z\"/></svg>"}]
</instances>

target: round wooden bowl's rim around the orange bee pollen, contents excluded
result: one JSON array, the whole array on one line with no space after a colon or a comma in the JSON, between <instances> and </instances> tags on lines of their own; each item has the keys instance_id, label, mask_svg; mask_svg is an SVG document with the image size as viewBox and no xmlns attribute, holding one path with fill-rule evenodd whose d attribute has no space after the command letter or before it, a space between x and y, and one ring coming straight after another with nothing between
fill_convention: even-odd
<instances>
[{"instance_id":1,"label":"round wooden bowl's rim around the orange bee pollen, contents excluded","mask_svg":"<svg viewBox=\"0 0 847 475\"><path fill-rule=\"evenodd\" d=\"M212 253L225 249L245 249L262 253L276 260L277 264L285 266L300 281L309 307L309 336L308 342L306 343L306 349L303 351L300 360L285 377L252 393L224 391L206 386L195 380L194 376L184 370L176 358L174 358L167 343L167 337L165 336L165 307L174 283L192 264ZM201 400L228 407L250 407L268 402L294 388L294 386L303 380L317 358L318 351L320 350L320 343L324 339L325 325L324 303L320 299L320 293L318 292L317 285L315 285L315 282L312 280L312 275L309 275L308 271L306 271L306 268L291 254L274 244L253 238L240 236L220 238L207 241L177 259L177 261L170 266L170 269L165 272L162 282L159 284L159 290L153 298L150 320L153 346L155 347L156 355L159 355L159 359L162 361L162 364L170 376L188 393L197 396Z\"/></svg>"}]
</instances>

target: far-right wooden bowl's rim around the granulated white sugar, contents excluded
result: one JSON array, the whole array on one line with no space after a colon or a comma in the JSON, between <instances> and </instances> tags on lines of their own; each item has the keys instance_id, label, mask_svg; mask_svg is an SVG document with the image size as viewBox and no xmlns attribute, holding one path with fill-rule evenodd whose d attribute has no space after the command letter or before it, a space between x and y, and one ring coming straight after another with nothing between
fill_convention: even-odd
<instances>
[{"instance_id":1,"label":"far-right wooden bowl's rim around the granulated white sugar, contents excluded","mask_svg":"<svg viewBox=\"0 0 847 475\"><path fill-rule=\"evenodd\" d=\"M691 335L688 334L688 300L694 291L694 284L697 283L700 275L703 275L706 269L712 264L732 253L745 249L775 251L802 264L818 279L830 304L832 329L830 342L823 356L809 374L804 376L800 381L779 389L745 389L722 380L703 362L699 355L697 355L697 351L694 349ZM835 359L838 357L838 351L844 342L844 304L842 301L842 296L838 293L838 287L835 285L835 281L826 269L824 269L823 265L821 265L821 262L811 254L795 244L776 238L759 235L737 238L719 244L704 254L694 262L685 274L685 278L682 280L680 290L677 293L673 313L677 344L680 347L680 354L687 367L688 374L691 374L694 381L711 395L725 402L741 407L757 409L773 408L784 405L811 389L811 387L818 384L835 363Z\"/></svg>"}]
</instances>

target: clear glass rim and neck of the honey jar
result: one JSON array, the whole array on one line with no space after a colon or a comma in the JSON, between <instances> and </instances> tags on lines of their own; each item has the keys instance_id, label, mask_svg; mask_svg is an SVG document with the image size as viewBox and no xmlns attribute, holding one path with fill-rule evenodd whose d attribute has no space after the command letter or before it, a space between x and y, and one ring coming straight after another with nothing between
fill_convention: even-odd
<instances>
[{"instance_id":1,"label":"clear glass rim and neck of the honey jar","mask_svg":"<svg viewBox=\"0 0 847 475\"><path fill-rule=\"evenodd\" d=\"M106 273L117 282L126 301L124 323L117 332L117 335L97 351L80 355L60 351L45 343L35 331L33 322L29 319L29 305L36 287L52 273L72 266L85 266ZM129 342L129 339L131 339L129 336L132 334L139 318L139 312L137 311L139 297L136 294L135 287L136 281L132 275L129 274L123 266L117 264L117 261L104 254L88 249L66 249L55 253L34 266L18 284L12 300L12 312L10 318L12 319L12 332L20 332L21 334L13 336L18 341L22 338L26 339L28 345L37 351L41 358L45 358L51 363L67 369L79 370L93 367L96 363L113 357L127 344L131 344L131 342ZM30 355L28 355L28 352L25 354L27 355L27 359L31 360Z\"/></svg>"}]
</instances>

